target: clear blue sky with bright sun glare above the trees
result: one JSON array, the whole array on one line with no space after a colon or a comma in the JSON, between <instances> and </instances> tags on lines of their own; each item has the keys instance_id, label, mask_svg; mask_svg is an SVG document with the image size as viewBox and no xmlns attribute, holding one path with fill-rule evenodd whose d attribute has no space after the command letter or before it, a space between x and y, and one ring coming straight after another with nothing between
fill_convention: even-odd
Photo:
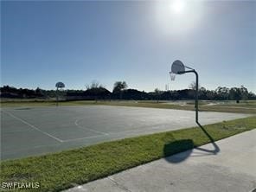
<instances>
[{"instance_id":1,"label":"clear blue sky with bright sun glare above the trees","mask_svg":"<svg viewBox=\"0 0 256 192\"><path fill-rule=\"evenodd\" d=\"M170 81L176 59L208 89L256 93L256 1L1 2L1 86L187 88L193 74Z\"/></svg>"}]
</instances>

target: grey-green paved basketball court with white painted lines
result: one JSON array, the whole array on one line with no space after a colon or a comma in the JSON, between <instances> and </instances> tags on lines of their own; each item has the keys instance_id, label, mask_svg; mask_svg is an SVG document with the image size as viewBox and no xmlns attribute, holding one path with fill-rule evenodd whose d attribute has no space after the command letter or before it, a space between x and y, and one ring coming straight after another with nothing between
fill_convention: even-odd
<instances>
[{"instance_id":1,"label":"grey-green paved basketball court with white painted lines","mask_svg":"<svg viewBox=\"0 0 256 192\"><path fill-rule=\"evenodd\" d=\"M200 112L202 125L247 117ZM1 159L73 149L195 125L195 112L125 106L1 108Z\"/></svg>"}]
</instances>

